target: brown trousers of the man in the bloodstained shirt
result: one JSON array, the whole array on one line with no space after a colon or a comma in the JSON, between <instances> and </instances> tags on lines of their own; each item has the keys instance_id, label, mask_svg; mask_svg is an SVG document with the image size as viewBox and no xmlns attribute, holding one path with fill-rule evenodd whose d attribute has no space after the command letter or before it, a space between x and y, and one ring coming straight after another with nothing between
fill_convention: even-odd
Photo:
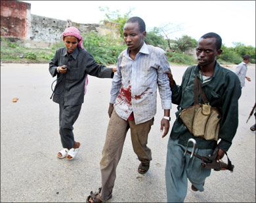
<instances>
[{"instance_id":1,"label":"brown trousers of the man in the bloodstained shirt","mask_svg":"<svg viewBox=\"0 0 256 203\"><path fill-rule=\"evenodd\" d=\"M148 143L148 134L151 126L154 124L154 118L135 124L135 120L123 120L114 110L108 130L106 140L102 151L102 159L100 160L102 189L100 191L100 199L107 200L112 194L114 182L116 179L116 168L123 151L123 143L129 128L131 129L131 141L133 151L143 164L150 164L152 160L151 150L146 146Z\"/></svg>"}]
</instances>

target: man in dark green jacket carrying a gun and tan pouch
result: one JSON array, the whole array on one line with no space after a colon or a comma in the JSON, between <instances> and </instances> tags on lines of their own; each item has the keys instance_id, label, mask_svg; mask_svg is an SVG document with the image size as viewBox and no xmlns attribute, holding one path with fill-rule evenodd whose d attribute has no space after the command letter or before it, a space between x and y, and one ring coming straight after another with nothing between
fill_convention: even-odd
<instances>
[{"instance_id":1,"label":"man in dark green jacket carrying a gun and tan pouch","mask_svg":"<svg viewBox=\"0 0 256 203\"><path fill-rule=\"evenodd\" d=\"M190 160L189 154L184 157L188 139L196 140L195 153L201 156L208 157L218 147L217 160L219 160L228 151L236 134L241 84L234 72L217 63L216 57L222 52L221 44L221 37L216 33L207 33L199 39L196 48L198 65L186 69L181 86L175 84L171 73L167 73L172 91L172 102L177 104L179 109L167 147L165 181L168 202L184 202L188 179L192 183L193 191L203 191L205 178L211 174L211 169L201 166L199 158L194 157ZM199 83L209 100L209 105L221 109L219 144L215 140L195 137L188 131L179 116L182 109L194 105L194 79L196 76L200 79ZM203 103L201 96L198 100ZM191 147L188 149L192 150Z\"/></svg>"}]
</instances>

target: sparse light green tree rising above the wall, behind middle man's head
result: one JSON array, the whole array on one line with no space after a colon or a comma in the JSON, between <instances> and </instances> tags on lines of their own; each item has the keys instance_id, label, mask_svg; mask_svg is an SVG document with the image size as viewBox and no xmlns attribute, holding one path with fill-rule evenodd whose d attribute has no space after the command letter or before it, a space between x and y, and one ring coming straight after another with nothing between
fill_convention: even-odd
<instances>
[{"instance_id":1,"label":"sparse light green tree rising above the wall, behind middle man's head","mask_svg":"<svg viewBox=\"0 0 256 203\"><path fill-rule=\"evenodd\" d=\"M100 11L105 12L105 19L101 20L101 22L106 20L110 22L117 22L119 24L120 36L123 38L123 27L125 26L125 22L131 18L131 12L133 9L130 8L129 11L123 15L120 14L120 10L110 11L108 7L99 7L99 9Z\"/></svg>"}]
</instances>

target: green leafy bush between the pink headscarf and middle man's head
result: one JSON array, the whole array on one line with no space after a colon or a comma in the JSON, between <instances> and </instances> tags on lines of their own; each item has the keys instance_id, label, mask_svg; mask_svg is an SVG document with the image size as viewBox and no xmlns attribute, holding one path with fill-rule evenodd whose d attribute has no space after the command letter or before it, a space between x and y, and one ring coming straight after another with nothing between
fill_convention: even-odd
<instances>
[{"instance_id":1,"label":"green leafy bush between the pink headscarf and middle man's head","mask_svg":"<svg viewBox=\"0 0 256 203\"><path fill-rule=\"evenodd\" d=\"M121 37L113 39L110 35L100 36L95 31L85 33L83 46L93 55L98 64L116 64L119 54L127 48Z\"/></svg>"}]
</instances>

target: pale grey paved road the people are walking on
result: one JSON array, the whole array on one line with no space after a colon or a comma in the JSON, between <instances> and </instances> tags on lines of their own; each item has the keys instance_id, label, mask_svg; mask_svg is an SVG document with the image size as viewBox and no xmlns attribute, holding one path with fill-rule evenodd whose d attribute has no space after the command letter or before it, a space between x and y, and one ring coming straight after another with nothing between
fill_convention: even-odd
<instances>
[{"instance_id":1,"label":"pale grey paved road the people are walking on","mask_svg":"<svg viewBox=\"0 0 256 203\"><path fill-rule=\"evenodd\" d=\"M234 71L236 66L228 68ZM172 66L177 84L186 66ZM203 193L188 184L185 202L255 202L255 132L245 121L255 102L255 65L249 65L240 98L240 124L228 156L234 173L213 171ZM81 143L74 160L58 159L58 105L50 100L48 64L1 64L1 202L85 202L91 190L100 187L100 158L108 126L111 79L89 77L75 139ZM12 98L19 98L12 103ZM176 105L171 110L171 126ZM137 172L139 160L133 153L129 132L117 167L110 202L166 202L165 158L169 136L161 138L163 116L158 113L148 146L153 160L147 174Z\"/></svg>"}]
</instances>

